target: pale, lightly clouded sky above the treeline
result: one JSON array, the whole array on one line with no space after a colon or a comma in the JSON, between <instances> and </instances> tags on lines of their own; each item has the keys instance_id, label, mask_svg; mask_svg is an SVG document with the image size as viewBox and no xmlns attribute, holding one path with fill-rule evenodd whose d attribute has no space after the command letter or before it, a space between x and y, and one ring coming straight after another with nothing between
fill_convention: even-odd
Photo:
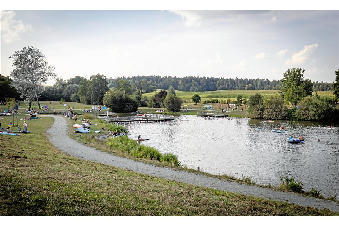
<instances>
[{"instance_id":1,"label":"pale, lightly clouded sky above the treeline","mask_svg":"<svg viewBox=\"0 0 339 226\"><path fill-rule=\"evenodd\" d=\"M339 11L1 11L1 74L33 45L58 77L281 79L292 67L333 82ZM50 81L49 85L54 84Z\"/></svg>"}]
</instances>

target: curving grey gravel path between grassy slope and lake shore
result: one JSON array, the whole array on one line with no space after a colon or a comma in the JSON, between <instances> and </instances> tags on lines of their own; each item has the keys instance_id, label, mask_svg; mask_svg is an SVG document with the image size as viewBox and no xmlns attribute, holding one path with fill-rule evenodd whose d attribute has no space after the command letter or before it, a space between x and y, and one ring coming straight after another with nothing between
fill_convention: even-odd
<instances>
[{"instance_id":1,"label":"curving grey gravel path between grassy slope and lake shore","mask_svg":"<svg viewBox=\"0 0 339 226\"><path fill-rule=\"evenodd\" d=\"M117 166L123 169L133 170L135 172L144 173L155 177L180 181L187 184L248 194L277 201L287 201L288 203L294 203L300 206L312 206L319 209L329 209L339 212L339 203L333 201L315 199L312 197L303 197L298 194L206 177L197 173L186 172L183 170L159 167L99 151L95 148L87 147L84 144L69 138L65 132L67 131L66 119L60 116L52 117L55 119L55 121L53 125L53 132L48 130L49 140L58 149L79 159L100 162L103 164Z\"/></svg>"}]
</instances>

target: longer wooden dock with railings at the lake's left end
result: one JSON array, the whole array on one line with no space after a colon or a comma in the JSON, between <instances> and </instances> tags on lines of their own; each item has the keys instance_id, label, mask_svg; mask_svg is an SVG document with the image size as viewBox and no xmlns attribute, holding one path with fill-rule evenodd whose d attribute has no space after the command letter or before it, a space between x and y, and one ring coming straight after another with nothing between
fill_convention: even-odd
<instances>
[{"instance_id":1,"label":"longer wooden dock with railings at the lake's left end","mask_svg":"<svg viewBox=\"0 0 339 226\"><path fill-rule=\"evenodd\" d=\"M119 117L109 118L108 123L122 123L122 122L165 122L174 121L174 116L167 115L144 115L144 116L130 116L130 117Z\"/></svg>"}]
</instances>

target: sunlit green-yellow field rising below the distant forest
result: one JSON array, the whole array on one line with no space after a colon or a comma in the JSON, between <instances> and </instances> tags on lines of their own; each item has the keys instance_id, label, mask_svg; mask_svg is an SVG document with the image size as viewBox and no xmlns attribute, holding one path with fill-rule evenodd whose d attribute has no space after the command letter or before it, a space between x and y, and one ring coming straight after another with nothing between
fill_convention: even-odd
<instances>
[{"instance_id":1,"label":"sunlit green-yellow field rising below the distant forest","mask_svg":"<svg viewBox=\"0 0 339 226\"><path fill-rule=\"evenodd\" d=\"M158 93L161 89L157 89L153 93L146 93L144 96L151 97L154 96L155 93ZM181 97L185 103L192 103L192 96L194 94L198 94L201 97L201 102L204 100L219 99L219 100L227 100L230 98L231 100L235 100L238 95L242 97L249 98L250 96L255 95L256 93L261 94L263 97L268 97L270 95L278 94L279 90L248 90L248 89L225 89L225 90L216 90L216 91L204 91L204 92L188 92L188 91L177 91L176 95ZM333 91L317 91L320 96L334 96Z\"/></svg>"}]
</instances>

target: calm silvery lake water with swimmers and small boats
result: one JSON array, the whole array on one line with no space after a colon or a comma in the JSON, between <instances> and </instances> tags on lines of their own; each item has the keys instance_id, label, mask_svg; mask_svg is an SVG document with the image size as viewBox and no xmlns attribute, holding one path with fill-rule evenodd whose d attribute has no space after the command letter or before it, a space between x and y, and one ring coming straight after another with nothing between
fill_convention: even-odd
<instances>
[{"instance_id":1,"label":"calm silvery lake water with swimmers and small boats","mask_svg":"<svg viewBox=\"0 0 339 226\"><path fill-rule=\"evenodd\" d=\"M218 118L204 120L181 116L175 122L125 124L136 139L161 152L173 152L182 165L213 174L241 178L252 176L258 184L279 185L279 173L290 171L303 188L320 189L327 197L339 196L339 123L336 130L325 122ZM183 121L182 121L183 120ZM188 121L189 120L189 121ZM258 129L258 125L262 129ZM285 127L286 134L271 132ZM303 135L305 143L287 143L291 135ZM320 142L318 142L320 139Z\"/></svg>"}]
</instances>

